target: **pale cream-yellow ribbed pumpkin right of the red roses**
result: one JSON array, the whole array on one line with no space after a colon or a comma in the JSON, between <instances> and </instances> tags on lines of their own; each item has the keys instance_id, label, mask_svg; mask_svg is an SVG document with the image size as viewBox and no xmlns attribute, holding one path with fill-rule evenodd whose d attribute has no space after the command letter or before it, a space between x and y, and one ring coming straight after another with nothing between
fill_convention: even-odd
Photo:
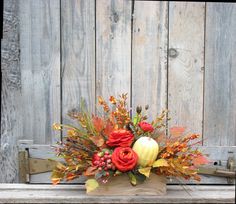
<instances>
[{"instance_id":1,"label":"pale cream-yellow ribbed pumpkin right of the red roses","mask_svg":"<svg viewBox=\"0 0 236 204\"><path fill-rule=\"evenodd\" d=\"M147 167L156 160L159 146L151 137L141 137L134 143L133 150L138 155L138 164Z\"/></svg>"}]
</instances>

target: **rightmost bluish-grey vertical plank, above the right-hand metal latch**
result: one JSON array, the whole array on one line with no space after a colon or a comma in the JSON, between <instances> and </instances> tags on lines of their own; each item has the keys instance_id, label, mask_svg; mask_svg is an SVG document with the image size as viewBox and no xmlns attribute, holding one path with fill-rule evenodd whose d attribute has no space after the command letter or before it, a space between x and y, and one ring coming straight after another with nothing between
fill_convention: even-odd
<instances>
[{"instance_id":1,"label":"rightmost bluish-grey vertical plank, above the right-hand metal latch","mask_svg":"<svg viewBox=\"0 0 236 204\"><path fill-rule=\"evenodd\" d=\"M207 3L205 145L236 145L236 5Z\"/></svg>"}]
</instances>

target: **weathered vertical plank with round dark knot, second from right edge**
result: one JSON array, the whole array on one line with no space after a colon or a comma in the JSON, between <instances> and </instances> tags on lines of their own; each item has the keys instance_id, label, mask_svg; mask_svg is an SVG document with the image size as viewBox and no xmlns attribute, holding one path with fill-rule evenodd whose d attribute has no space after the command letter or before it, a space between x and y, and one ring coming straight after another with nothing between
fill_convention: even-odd
<instances>
[{"instance_id":1,"label":"weathered vertical plank with round dark knot, second from right edge","mask_svg":"<svg viewBox=\"0 0 236 204\"><path fill-rule=\"evenodd\" d=\"M204 17L205 3L169 3L169 126L183 125L200 134L203 120Z\"/></svg>"}]
</instances>

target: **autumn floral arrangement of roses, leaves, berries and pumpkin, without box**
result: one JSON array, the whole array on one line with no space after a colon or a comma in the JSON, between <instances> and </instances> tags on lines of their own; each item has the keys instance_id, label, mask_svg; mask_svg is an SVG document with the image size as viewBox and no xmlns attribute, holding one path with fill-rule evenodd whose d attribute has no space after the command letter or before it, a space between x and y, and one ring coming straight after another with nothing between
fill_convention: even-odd
<instances>
[{"instance_id":1,"label":"autumn floral arrangement of roses, leaves, berries and pumpkin, without box","mask_svg":"<svg viewBox=\"0 0 236 204\"><path fill-rule=\"evenodd\" d=\"M66 132L63 141L54 146L57 156L64 161L58 162L52 172L53 184L86 176L89 179L85 186L90 192L121 174L127 174L135 186L151 172L200 181L198 167L208 160L197 147L193 148L201 143L198 134L185 133L183 127L172 127L166 134L167 111L148 122L148 105L137 106L132 118L127 94L110 96L109 102L110 105L98 97L97 115L83 106L80 112L69 112L78 121L78 127L53 125L54 129Z\"/></svg>"}]
</instances>

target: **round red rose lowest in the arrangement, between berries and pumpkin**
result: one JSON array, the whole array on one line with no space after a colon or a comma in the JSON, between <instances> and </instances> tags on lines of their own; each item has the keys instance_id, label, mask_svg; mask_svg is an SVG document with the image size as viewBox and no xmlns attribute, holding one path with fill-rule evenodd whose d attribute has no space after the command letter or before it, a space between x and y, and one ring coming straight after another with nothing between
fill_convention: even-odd
<instances>
[{"instance_id":1,"label":"round red rose lowest in the arrangement, between berries and pumpkin","mask_svg":"<svg viewBox=\"0 0 236 204\"><path fill-rule=\"evenodd\" d=\"M112 163L121 172L132 170L138 161L138 155L130 147L117 147L112 154Z\"/></svg>"}]
</instances>

